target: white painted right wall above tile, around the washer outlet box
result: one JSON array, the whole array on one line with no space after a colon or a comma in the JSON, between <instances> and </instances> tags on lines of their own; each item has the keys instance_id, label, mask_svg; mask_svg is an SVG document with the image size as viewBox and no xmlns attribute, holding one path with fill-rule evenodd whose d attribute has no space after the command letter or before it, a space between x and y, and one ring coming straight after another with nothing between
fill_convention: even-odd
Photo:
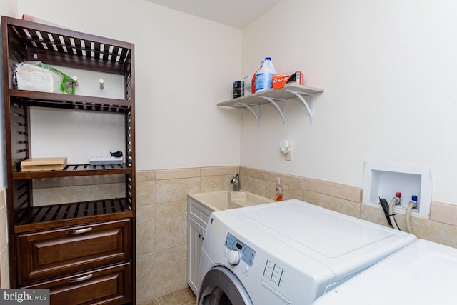
<instances>
[{"instance_id":1,"label":"white painted right wall above tile, around the washer outlet box","mask_svg":"<svg viewBox=\"0 0 457 305\"><path fill-rule=\"evenodd\" d=\"M298 102L284 126L273 106L259 126L244 110L241 165L352 186L365 161L427 166L433 200L457 204L456 11L452 0L283 0L243 31L243 75L271 56L325 92L312 125Z\"/></svg>"}]
</instances>

